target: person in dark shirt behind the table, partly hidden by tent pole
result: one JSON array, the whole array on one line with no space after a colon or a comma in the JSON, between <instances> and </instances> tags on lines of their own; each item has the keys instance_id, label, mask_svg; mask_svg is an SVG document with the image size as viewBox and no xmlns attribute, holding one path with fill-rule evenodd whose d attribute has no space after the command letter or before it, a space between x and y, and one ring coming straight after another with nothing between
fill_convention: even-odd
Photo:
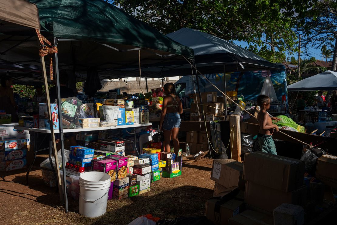
<instances>
[{"instance_id":1,"label":"person in dark shirt behind the table, partly hidden by tent pole","mask_svg":"<svg viewBox=\"0 0 337 225\"><path fill-rule=\"evenodd\" d=\"M71 88L67 87L68 75L66 72L60 72L60 95L61 99L66 99L67 97L74 97L77 95L77 90L74 91ZM55 84L56 80L54 78L53 83ZM49 88L49 99L50 103L55 103L57 99L56 86Z\"/></svg>"}]
</instances>

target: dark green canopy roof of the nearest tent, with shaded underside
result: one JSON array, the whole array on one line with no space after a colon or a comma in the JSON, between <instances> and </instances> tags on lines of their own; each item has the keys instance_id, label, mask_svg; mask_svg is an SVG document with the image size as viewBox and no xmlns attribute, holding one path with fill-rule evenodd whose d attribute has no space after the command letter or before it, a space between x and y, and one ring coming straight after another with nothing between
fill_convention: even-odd
<instances>
[{"instance_id":1,"label":"dark green canopy roof of the nearest tent, with shaded underside","mask_svg":"<svg viewBox=\"0 0 337 225\"><path fill-rule=\"evenodd\" d=\"M31 0L39 8L41 33L49 40L58 38L59 68L74 70L85 77L96 66L100 78L111 78L118 68L137 68L141 64L185 63L193 59L193 50L136 20L119 8L101 0ZM39 66L36 34L11 36L0 27L0 62ZM10 49L10 50L8 50ZM6 69L2 65L0 69ZM28 66L27 66L28 67ZM28 68L29 70L29 68ZM27 68L26 68L27 71ZM13 73L14 74L14 73ZM30 76L36 76L31 71ZM14 74L15 75L15 74ZM25 76L29 76L26 73ZM125 71L112 78L126 77Z\"/></svg>"}]
</instances>

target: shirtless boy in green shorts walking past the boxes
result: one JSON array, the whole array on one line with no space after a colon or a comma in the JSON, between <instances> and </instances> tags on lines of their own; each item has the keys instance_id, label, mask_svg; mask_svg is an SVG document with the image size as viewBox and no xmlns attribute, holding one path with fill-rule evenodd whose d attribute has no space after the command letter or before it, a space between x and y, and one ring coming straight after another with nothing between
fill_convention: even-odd
<instances>
[{"instance_id":1,"label":"shirtless boy in green shorts walking past the boxes","mask_svg":"<svg viewBox=\"0 0 337 225\"><path fill-rule=\"evenodd\" d=\"M276 148L273 140L274 128L278 132L278 126L273 124L273 120L279 121L279 118L270 117L267 110L270 108L270 98L267 95L257 96L257 105L261 108L257 114L257 121L260 125L260 130L258 132L258 143L263 152L275 154Z\"/></svg>"}]
</instances>

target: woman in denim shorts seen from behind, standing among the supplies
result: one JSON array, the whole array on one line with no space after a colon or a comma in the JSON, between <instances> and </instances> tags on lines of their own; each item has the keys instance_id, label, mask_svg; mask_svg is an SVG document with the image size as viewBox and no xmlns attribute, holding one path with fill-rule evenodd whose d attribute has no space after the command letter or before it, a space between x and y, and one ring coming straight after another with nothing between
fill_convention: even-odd
<instances>
[{"instance_id":1,"label":"woman in denim shorts seen from behind, standing among the supplies","mask_svg":"<svg viewBox=\"0 0 337 225\"><path fill-rule=\"evenodd\" d=\"M174 84L167 83L164 85L166 96L163 99L163 109L160 118L160 130L164 131L164 150L170 152L171 138L173 140L174 152L178 155L179 140L178 132L180 128L180 114L183 113L183 106L178 96Z\"/></svg>"}]
</instances>

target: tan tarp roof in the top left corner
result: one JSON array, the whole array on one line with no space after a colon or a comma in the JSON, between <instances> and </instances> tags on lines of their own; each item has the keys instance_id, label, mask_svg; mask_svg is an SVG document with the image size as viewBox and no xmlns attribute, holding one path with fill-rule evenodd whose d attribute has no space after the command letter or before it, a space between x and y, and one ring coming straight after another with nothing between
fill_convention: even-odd
<instances>
[{"instance_id":1,"label":"tan tarp roof in the top left corner","mask_svg":"<svg viewBox=\"0 0 337 225\"><path fill-rule=\"evenodd\" d=\"M38 9L26 0L1 0L0 24L3 32L22 31L23 27L39 30Z\"/></svg>"}]
</instances>

